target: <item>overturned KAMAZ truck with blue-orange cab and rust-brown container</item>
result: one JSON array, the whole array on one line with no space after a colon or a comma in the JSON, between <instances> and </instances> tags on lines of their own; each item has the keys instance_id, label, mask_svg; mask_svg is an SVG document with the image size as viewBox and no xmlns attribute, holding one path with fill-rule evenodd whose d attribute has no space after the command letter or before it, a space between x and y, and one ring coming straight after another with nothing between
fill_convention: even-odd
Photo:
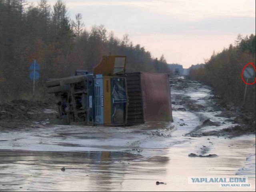
<instances>
[{"instance_id":1,"label":"overturned KAMAZ truck with blue-orange cab and rust-brown container","mask_svg":"<svg viewBox=\"0 0 256 192\"><path fill-rule=\"evenodd\" d=\"M104 55L93 73L46 81L58 105L55 123L124 126L172 121L166 73L126 73L126 56Z\"/></svg>"}]
</instances>

